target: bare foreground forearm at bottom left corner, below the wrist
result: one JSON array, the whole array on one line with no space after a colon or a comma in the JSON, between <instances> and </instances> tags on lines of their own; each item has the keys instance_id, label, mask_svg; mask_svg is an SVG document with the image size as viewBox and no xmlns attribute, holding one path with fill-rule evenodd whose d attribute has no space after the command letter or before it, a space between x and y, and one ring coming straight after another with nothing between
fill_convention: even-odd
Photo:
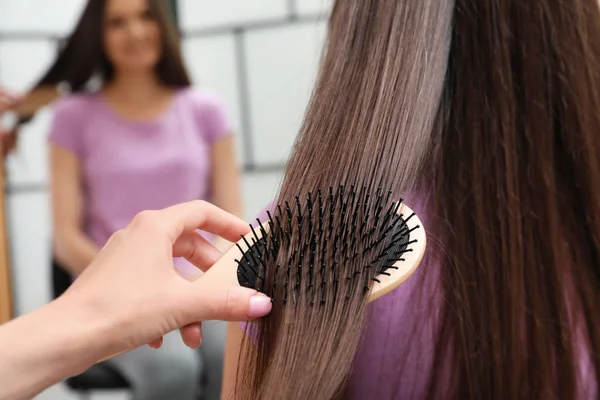
<instances>
[{"instance_id":1,"label":"bare foreground forearm at bottom left corner, below the wrist","mask_svg":"<svg viewBox=\"0 0 600 400\"><path fill-rule=\"evenodd\" d=\"M0 326L0 400L30 399L107 354L106 319L58 299Z\"/></svg>"}]
</instances>

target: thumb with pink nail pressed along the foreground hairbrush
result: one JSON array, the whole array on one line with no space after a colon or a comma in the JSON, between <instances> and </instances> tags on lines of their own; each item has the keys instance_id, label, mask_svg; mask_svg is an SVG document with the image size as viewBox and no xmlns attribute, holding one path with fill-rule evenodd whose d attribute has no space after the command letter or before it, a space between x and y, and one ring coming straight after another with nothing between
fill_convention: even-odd
<instances>
[{"instance_id":1,"label":"thumb with pink nail pressed along the foreground hairbrush","mask_svg":"<svg viewBox=\"0 0 600 400\"><path fill-rule=\"evenodd\" d=\"M248 321L271 312L271 299L253 289L241 286L194 289L194 321Z\"/></svg>"}]
</instances>

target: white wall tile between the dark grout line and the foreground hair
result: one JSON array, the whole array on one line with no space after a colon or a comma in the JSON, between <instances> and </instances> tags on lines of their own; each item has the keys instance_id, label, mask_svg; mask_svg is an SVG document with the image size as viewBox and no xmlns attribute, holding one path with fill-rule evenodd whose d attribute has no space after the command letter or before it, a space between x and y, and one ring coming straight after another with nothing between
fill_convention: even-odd
<instances>
[{"instance_id":1,"label":"white wall tile between the dark grout line and the foreground hair","mask_svg":"<svg viewBox=\"0 0 600 400\"><path fill-rule=\"evenodd\" d=\"M316 78L325 24L306 23L246 37L255 161L287 158Z\"/></svg>"}]
</instances>

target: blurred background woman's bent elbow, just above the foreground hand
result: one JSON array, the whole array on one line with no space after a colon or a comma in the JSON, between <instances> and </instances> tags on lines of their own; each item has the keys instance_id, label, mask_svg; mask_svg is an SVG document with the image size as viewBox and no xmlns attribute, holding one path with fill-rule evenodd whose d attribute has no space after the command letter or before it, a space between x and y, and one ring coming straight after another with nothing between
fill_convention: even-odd
<instances>
[{"instance_id":1,"label":"blurred background woman's bent elbow, just above the foreground hand","mask_svg":"<svg viewBox=\"0 0 600 400\"><path fill-rule=\"evenodd\" d=\"M58 233L54 252L58 261L72 274L79 275L100 251L100 247L83 232Z\"/></svg>"}]
</instances>

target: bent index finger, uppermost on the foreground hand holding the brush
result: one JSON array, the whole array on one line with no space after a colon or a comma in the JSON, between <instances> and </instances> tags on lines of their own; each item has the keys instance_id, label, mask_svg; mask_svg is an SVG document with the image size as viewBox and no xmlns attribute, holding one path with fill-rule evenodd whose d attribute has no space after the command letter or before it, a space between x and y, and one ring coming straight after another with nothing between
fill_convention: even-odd
<instances>
[{"instance_id":1,"label":"bent index finger, uppermost on the foreground hand holding the brush","mask_svg":"<svg viewBox=\"0 0 600 400\"><path fill-rule=\"evenodd\" d=\"M246 222L205 201L192 201L166 208L159 212L167 222L167 233L174 243L184 232L195 229L237 242L240 235L250 231Z\"/></svg>"}]
</instances>

